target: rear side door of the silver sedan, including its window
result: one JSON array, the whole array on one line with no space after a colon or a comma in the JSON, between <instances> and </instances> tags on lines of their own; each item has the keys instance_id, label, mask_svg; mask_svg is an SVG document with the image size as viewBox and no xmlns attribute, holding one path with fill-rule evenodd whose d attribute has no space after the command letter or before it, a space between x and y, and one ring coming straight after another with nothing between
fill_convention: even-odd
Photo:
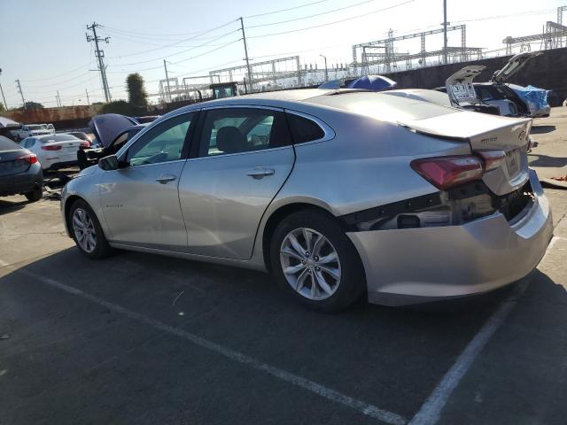
<instances>
[{"instance_id":1,"label":"rear side door of the silver sedan, including its window","mask_svg":"<svg viewBox=\"0 0 567 425\"><path fill-rule=\"evenodd\" d=\"M179 183L188 250L250 259L262 214L291 173L295 152L282 110L211 108Z\"/></svg>"}]
</instances>

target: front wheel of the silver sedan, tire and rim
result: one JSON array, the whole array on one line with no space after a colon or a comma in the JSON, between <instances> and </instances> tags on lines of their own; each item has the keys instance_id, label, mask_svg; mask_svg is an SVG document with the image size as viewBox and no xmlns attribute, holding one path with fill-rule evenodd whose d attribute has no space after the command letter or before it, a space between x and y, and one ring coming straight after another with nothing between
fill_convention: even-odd
<instances>
[{"instance_id":1,"label":"front wheel of the silver sedan, tire and rim","mask_svg":"<svg viewBox=\"0 0 567 425\"><path fill-rule=\"evenodd\" d=\"M100 227L97 214L82 199L76 200L71 205L67 223L74 243L76 243L77 248L85 257L89 259L104 259L113 253L113 249L108 244L105 233ZM79 225L80 223L82 223L82 226ZM81 228L87 229L86 235L85 232L81 231ZM85 236L82 237L82 235ZM92 237L89 238L89 236Z\"/></svg>"}]
</instances>

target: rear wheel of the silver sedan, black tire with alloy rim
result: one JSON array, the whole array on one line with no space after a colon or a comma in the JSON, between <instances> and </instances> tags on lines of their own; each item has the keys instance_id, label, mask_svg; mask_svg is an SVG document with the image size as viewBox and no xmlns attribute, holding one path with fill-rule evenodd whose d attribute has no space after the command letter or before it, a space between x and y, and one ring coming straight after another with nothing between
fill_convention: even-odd
<instances>
[{"instance_id":1,"label":"rear wheel of the silver sedan, black tire with alloy rim","mask_svg":"<svg viewBox=\"0 0 567 425\"><path fill-rule=\"evenodd\" d=\"M303 249L309 238L314 252L303 252L299 259L291 236ZM337 261L332 260L335 256ZM284 218L270 240L270 265L283 290L314 310L338 312L353 305L366 290L358 252L330 214L303 210ZM297 273L290 273L296 269Z\"/></svg>"}]
</instances>

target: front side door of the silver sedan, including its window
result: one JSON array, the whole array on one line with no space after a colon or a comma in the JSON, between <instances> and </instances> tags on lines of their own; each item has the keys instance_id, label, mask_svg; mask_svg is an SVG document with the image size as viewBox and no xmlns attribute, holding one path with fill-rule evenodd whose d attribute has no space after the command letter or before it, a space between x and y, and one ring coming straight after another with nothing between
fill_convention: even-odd
<instances>
[{"instance_id":1,"label":"front side door of the silver sedan, including its window","mask_svg":"<svg viewBox=\"0 0 567 425\"><path fill-rule=\"evenodd\" d=\"M177 186L196 116L162 121L120 152L124 166L105 172L100 199L110 240L173 251L187 247Z\"/></svg>"}]
</instances>

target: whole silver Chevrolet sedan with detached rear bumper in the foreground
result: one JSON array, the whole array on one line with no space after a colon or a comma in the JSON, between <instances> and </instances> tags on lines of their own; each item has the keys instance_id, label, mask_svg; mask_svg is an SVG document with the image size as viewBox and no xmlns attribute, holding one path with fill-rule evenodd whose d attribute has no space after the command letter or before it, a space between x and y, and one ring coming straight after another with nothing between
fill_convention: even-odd
<instances>
[{"instance_id":1,"label":"whole silver Chevrolet sedan with detached rear bumper in the foreground","mask_svg":"<svg viewBox=\"0 0 567 425\"><path fill-rule=\"evenodd\" d=\"M91 259L125 249L269 271L315 309L463 297L528 274L552 236L531 125L396 90L220 99L83 170L61 211Z\"/></svg>"}]
</instances>

